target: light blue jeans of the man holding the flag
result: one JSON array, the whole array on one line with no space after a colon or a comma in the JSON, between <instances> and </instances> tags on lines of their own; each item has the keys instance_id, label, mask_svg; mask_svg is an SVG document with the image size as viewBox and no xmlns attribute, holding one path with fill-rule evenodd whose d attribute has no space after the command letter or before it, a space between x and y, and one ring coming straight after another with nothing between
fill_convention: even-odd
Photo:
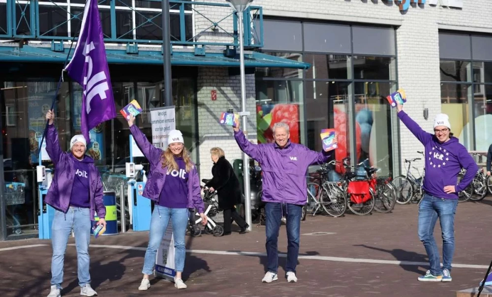
<instances>
[{"instance_id":1,"label":"light blue jeans of the man holding the flag","mask_svg":"<svg viewBox=\"0 0 492 297\"><path fill-rule=\"evenodd\" d=\"M68 238L73 230L77 248L77 276L79 286L91 284L89 274L89 240L91 239L91 211L89 208L68 208L65 214L56 210L51 226L53 257L51 258L51 285L62 289L63 262Z\"/></svg>"}]
</instances>

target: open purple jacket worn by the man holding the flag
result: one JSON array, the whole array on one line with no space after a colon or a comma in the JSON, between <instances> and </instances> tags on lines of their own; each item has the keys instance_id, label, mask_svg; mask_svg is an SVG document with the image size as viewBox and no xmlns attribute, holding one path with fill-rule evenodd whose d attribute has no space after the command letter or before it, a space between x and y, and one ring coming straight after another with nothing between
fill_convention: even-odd
<instances>
[{"instance_id":1,"label":"open purple jacket worn by the man holding the flag","mask_svg":"<svg viewBox=\"0 0 492 297\"><path fill-rule=\"evenodd\" d=\"M46 132L46 151L55 165L55 176L51 182L48 194L44 198L46 204L51 205L64 213L70 206L73 180L75 179L75 161L69 152L62 151L58 142L58 133L55 125L48 125ZM88 157L89 158L89 157ZM97 211L100 219L106 217L106 207L103 201L103 187L99 171L92 163L89 164L89 201L91 216ZM93 217L91 217L93 220Z\"/></svg>"}]
</instances>

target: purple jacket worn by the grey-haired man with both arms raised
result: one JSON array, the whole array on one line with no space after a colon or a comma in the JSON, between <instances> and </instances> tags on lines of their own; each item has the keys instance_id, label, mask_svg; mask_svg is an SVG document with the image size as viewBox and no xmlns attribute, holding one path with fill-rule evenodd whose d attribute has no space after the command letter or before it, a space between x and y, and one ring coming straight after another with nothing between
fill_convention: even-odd
<instances>
[{"instance_id":1,"label":"purple jacket worn by the grey-haired man with both arms raised","mask_svg":"<svg viewBox=\"0 0 492 297\"><path fill-rule=\"evenodd\" d=\"M234 138L242 151L261 164L261 200L264 202L306 204L307 167L325 163L331 155L331 152L316 152L290 140L283 149L277 144L254 145L241 130L234 132Z\"/></svg>"}]
</instances>

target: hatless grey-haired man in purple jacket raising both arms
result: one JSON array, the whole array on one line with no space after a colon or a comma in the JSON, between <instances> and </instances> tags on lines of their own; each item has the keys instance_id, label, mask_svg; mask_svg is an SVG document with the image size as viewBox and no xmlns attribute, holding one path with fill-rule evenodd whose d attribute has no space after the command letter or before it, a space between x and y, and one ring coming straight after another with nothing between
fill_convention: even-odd
<instances>
[{"instance_id":1,"label":"hatless grey-haired man in purple jacket raising both arms","mask_svg":"<svg viewBox=\"0 0 492 297\"><path fill-rule=\"evenodd\" d=\"M246 139L239 125L234 128L234 138L239 148L258 161L263 172L262 201L266 202L265 246L268 264L262 282L270 283L278 279L277 239L283 213L287 217L286 277L288 282L297 282L301 213L307 197L307 167L326 162L331 153L315 152L303 145L291 143L286 123L276 123L273 134L275 144L254 145Z\"/></svg>"}]
</instances>

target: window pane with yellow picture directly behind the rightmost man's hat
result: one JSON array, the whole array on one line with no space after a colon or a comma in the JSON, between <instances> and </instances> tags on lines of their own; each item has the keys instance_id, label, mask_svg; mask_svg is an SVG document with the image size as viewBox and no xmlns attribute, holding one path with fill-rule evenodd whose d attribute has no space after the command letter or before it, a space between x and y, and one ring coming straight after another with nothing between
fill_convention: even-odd
<instances>
[{"instance_id":1,"label":"window pane with yellow picture directly behind the rightmost man's hat","mask_svg":"<svg viewBox=\"0 0 492 297\"><path fill-rule=\"evenodd\" d=\"M471 84L441 83L441 112L449 116L451 132L468 150L473 150L468 105L468 98L472 97L471 92Z\"/></svg>"}]
</instances>

